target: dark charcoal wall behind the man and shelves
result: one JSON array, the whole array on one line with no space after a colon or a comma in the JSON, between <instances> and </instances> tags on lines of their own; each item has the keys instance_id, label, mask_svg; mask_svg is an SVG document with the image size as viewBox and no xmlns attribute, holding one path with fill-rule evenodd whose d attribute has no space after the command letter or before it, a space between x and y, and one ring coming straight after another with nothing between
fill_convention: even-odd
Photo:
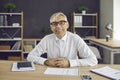
<instances>
[{"instance_id":1,"label":"dark charcoal wall behind the man and shelves","mask_svg":"<svg viewBox=\"0 0 120 80\"><path fill-rule=\"evenodd\" d=\"M64 12L71 26L71 13L78 12L79 6L89 7L89 13L99 14L99 0L0 0L0 12L7 2L14 2L14 12L24 11L24 38L42 38L51 33L49 17L54 12ZM69 29L70 30L70 29Z\"/></svg>"}]
</instances>

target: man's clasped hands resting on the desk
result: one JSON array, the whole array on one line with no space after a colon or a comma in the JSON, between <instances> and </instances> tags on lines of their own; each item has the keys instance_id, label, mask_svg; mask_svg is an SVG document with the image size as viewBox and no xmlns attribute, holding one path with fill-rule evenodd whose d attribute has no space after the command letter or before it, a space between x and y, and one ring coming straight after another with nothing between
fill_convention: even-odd
<instances>
[{"instance_id":1,"label":"man's clasped hands resting on the desk","mask_svg":"<svg viewBox=\"0 0 120 80\"><path fill-rule=\"evenodd\" d=\"M61 68L70 67L70 63L67 58L47 59L44 62L44 64L51 67L61 67Z\"/></svg>"}]
</instances>

